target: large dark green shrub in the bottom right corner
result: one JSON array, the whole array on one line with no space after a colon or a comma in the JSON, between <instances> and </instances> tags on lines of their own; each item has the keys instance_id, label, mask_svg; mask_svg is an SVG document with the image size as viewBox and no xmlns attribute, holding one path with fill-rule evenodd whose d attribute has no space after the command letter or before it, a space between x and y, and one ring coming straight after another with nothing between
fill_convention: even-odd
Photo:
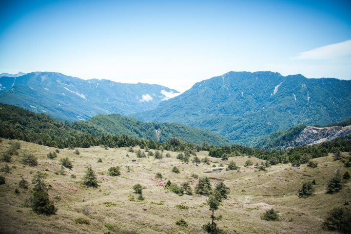
<instances>
[{"instance_id":1,"label":"large dark green shrub in the bottom right corner","mask_svg":"<svg viewBox=\"0 0 351 234\"><path fill-rule=\"evenodd\" d=\"M335 207L327 213L323 226L330 231L351 233L351 212L344 207Z\"/></svg>"}]
</instances>

